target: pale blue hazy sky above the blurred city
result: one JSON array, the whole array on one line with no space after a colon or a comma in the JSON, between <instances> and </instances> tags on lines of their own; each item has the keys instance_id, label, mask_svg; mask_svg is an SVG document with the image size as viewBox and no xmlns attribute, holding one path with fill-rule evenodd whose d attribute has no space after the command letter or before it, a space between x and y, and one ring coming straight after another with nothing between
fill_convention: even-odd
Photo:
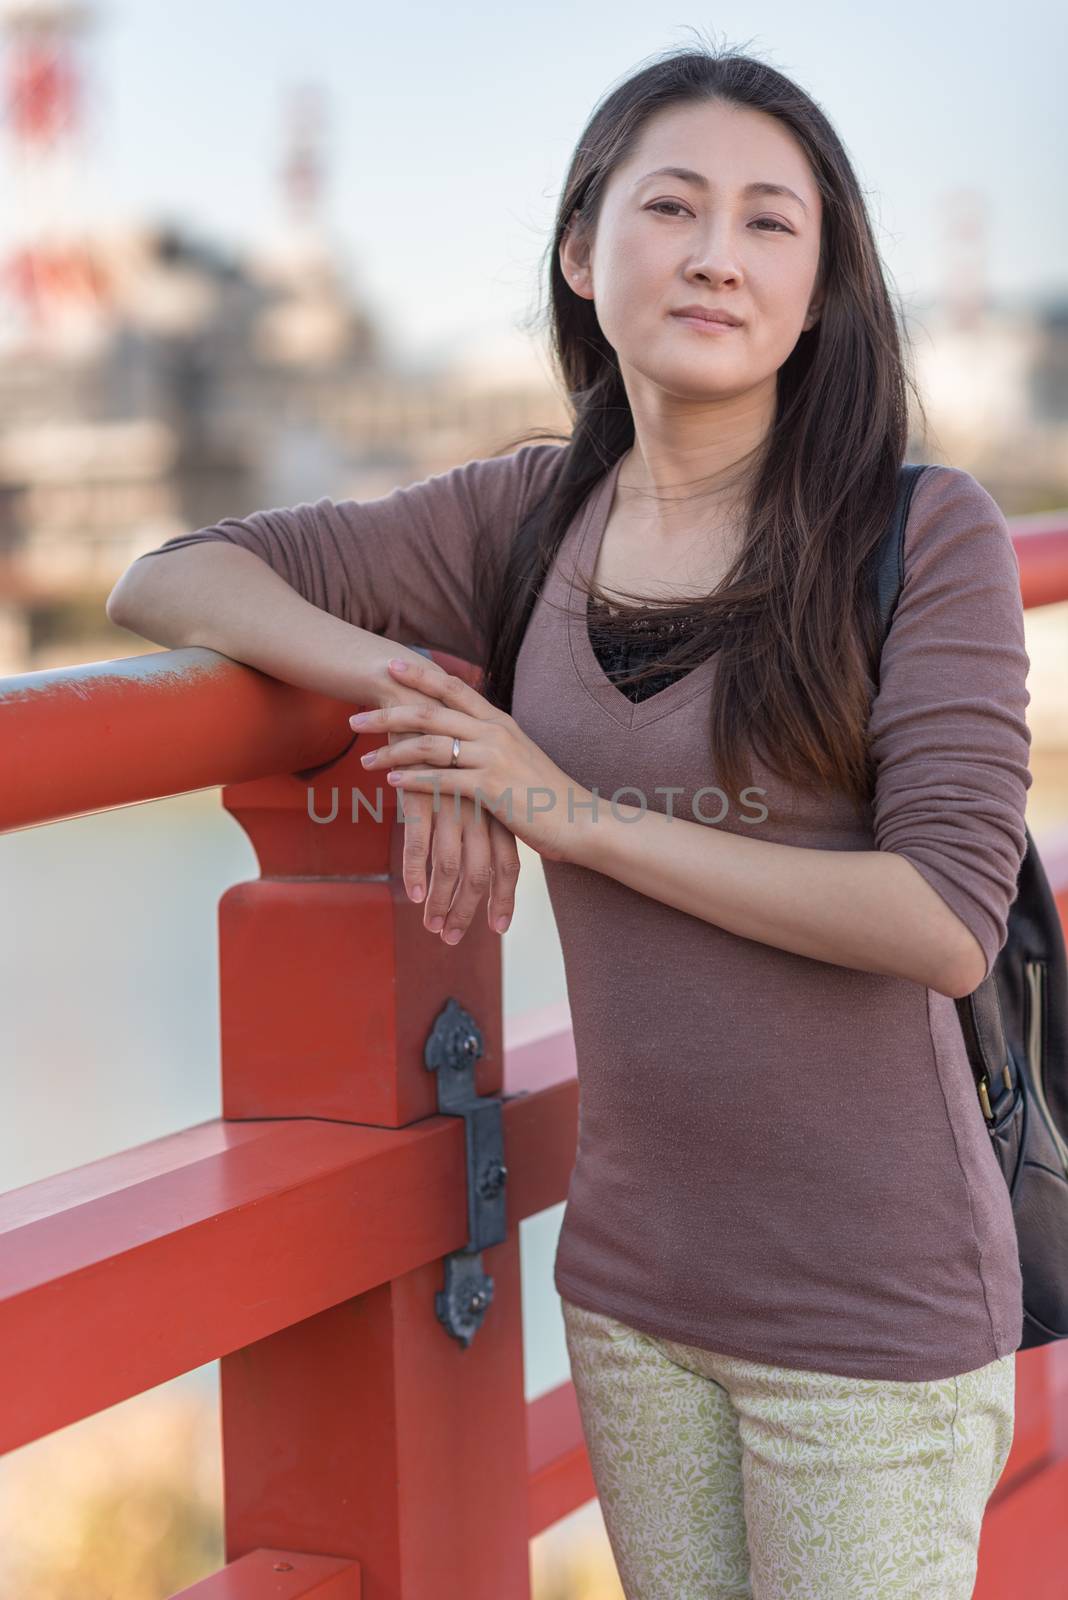
<instances>
[{"instance_id":1,"label":"pale blue hazy sky above the blurred city","mask_svg":"<svg viewBox=\"0 0 1068 1600\"><path fill-rule=\"evenodd\" d=\"M671 10L342 0L91 0L86 126L67 214L174 221L241 251L285 227L288 96L318 85L325 214L400 357L529 341L542 254L593 106L703 37L795 77L857 168L892 288L938 294L953 192L977 190L990 291L1068 285L1068 11L964 0ZM18 219L2 168L0 246Z\"/></svg>"}]
</instances>

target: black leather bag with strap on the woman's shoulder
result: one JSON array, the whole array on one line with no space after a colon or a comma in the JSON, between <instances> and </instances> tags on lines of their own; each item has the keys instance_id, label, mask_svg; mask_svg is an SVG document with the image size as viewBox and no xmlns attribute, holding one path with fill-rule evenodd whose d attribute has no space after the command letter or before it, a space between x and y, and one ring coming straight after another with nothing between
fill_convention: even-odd
<instances>
[{"instance_id":1,"label":"black leather bag with strap on the woman's shoulder","mask_svg":"<svg viewBox=\"0 0 1068 1600\"><path fill-rule=\"evenodd\" d=\"M903 466L875 557L883 642L900 594L905 522L923 466ZM993 970L956 1000L978 1104L1012 1197L1023 1277L1018 1349L1068 1338L1068 963L1034 840L1026 848Z\"/></svg>"}]
</instances>

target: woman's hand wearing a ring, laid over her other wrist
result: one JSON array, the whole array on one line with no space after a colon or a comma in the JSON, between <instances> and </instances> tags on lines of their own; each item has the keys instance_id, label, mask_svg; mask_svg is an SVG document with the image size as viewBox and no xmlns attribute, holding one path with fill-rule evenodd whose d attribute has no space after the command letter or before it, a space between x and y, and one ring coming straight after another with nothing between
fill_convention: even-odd
<instances>
[{"instance_id":1,"label":"woman's hand wearing a ring, laid over her other wrist","mask_svg":"<svg viewBox=\"0 0 1068 1600\"><path fill-rule=\"evenodd\" d=\"M428 661L390 661L397 683L416 690L414 701L382 704L350 717L357 730L385 728L389 750L374 750L365 765L392 766L387 782L409 795L432 795L435 816L459 806L462 797L491 811L504 826L548 861L576 859L592 826L593 795L576 786L513 717L491 706L478 690ZM397 746L392 734L412 734ZM452 741L460 741L452 762ZM425 771L430 765L433 770ZM579 814L576 814L576 811Z\"/></svg>"}]
</instances>

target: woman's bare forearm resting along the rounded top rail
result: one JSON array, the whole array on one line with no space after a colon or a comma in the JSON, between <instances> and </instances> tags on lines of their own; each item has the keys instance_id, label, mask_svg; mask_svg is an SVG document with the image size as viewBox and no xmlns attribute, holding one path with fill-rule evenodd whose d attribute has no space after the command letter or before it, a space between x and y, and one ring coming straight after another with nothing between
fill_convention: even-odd
<instances>
[{"instance_id":1,"label":"woman's bare forearm resting along the rounded top rail","mask_svg":"<svg viewBox=\"0 0 1068 1600\"><path fill-rule=\"evenodd\" d=\"M251 550L203 542L126 568L107 598L118 627L169 650L203 645L299 688L360 701L390 656L422 659L310 605Z\"/></svg>"}]
</instances>

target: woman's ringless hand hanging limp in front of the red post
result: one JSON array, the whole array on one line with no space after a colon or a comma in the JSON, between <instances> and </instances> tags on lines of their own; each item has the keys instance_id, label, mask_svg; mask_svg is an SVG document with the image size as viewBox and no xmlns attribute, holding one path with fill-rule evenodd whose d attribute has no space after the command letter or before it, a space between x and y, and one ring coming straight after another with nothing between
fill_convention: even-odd
<instances>
[{"instance_id":1,"label":"woman's ringless hand hanging limp in front of the red post","mask_svg":"<svg viewBox=\"0 0 1068 1600\"><path fill-rule=\"evenodd\" d=\"M425 696L382 672L374 699L385 706L422 706ZM389 734L389 755L406 742L406 734ZM430 891L427 893L427 854ZM515 912L520 853L508 829L484 810L476 814L473 800L438 806L433 795L404 795L404 845L401 877L409 899L425 898L422 923L440 933L446 944L457 944L486 894L486 920L494 933L505 933Z\"/></svg>"}]
</instances>

